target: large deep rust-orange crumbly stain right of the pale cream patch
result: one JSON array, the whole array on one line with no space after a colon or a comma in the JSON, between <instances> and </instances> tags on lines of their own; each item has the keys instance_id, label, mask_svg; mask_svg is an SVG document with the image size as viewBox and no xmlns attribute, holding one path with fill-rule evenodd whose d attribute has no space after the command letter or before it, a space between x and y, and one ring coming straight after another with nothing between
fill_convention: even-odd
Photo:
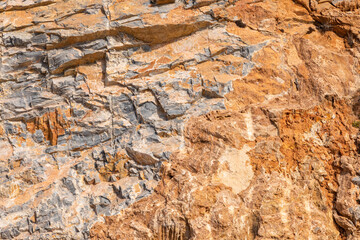
<instances>
[{"instance_id":1,"label":"large deep rust-orange crumbly stain right of the pale cream patch","mask_svg":"<svg viewBox=\"0 0 360 240\"><path fill-rule=\"evenodd\" d=\"M335 198L330 186L337 187L336 175L340 169L334 166L334 161L340 156L352 157L356 152L355 142L349 139L354 132L351 126L351 108L343 100L335 99L333 102L326 101L324 104L311 109L285 110L279 120L279 137L257 139L257 141L274 142L278 144L277 150L283 154L279 159L278 151L255 150L250 152L251 161L256 171L265 169L271 173L281 172L285 175L300 169L309 175L314 174L312 164L320 163L327 175L320 186L327 196L328 206L333 205ZM312 128L318 125L318 130L311 133ZM307 139L306 134L313 134L319 141L326 144L316 143L314 138ZM308 166L308 169L304 167ZM302 170L301 170L302 169Z\"/></svg>"}]
</instances>

